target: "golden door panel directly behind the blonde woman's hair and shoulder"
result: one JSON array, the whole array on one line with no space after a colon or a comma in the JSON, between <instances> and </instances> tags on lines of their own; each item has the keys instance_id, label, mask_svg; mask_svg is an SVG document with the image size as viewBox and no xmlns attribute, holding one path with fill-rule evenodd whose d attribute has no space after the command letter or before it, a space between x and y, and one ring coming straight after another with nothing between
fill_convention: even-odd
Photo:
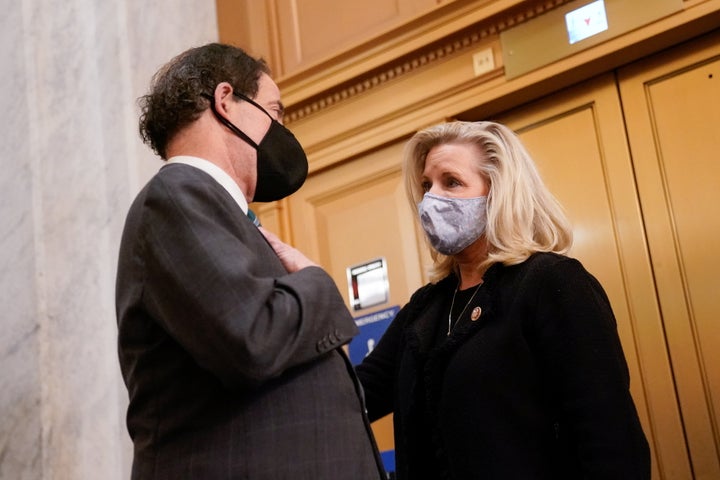
<instances>
[{"instance_id":1,"label":"golden door panel directly behind the blonde woman's hair and shoulder","mask_svg":"<svg viewBox=\"0 0 720 480\"><path fill-rule=\"evenodd\" d=\"M654 478L689 478L672 369L612 75L502 115L574 226L570 252L602 283L618 322ZM662 463L660 461L662 458Z\"/></svg>"}]
</instances>

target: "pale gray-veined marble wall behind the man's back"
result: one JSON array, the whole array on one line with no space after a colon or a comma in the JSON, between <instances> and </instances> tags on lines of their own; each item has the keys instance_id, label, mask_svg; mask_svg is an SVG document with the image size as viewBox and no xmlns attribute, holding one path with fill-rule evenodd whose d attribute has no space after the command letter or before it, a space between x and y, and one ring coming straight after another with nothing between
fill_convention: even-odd
<instances>
[{"instance_id":1,"label":"pale gray-veined marble wall behind the man's back","mask_svg":"<svg viewBox=\"0 0 720 480\"><path fill-rule=\"evenodd\" d=\"M5 0L0 15L0 479L126 479L115 264L160 161L157 68L217 39L207 0Z\"/></svg>"}]
</instances>

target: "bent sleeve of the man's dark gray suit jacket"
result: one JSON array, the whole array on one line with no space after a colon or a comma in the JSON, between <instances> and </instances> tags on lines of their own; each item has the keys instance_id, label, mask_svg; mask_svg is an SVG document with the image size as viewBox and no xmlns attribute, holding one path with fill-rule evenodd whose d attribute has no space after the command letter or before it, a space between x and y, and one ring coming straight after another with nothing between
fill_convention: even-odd
<instances>
[{"instance_id":1,"label":"bent sleeve of the man's dark gray suit jacket","mask_svg":"<svg viewBox=\"0 0 720 480\"><path fill-rule=\"evenodd\" d=\"M144 305L198 364L228 387L248 387L357 333L322 269L287 273L227 192L177 172L188 169L149 185L134 261Z\"/></svg>"}]
</instances>

